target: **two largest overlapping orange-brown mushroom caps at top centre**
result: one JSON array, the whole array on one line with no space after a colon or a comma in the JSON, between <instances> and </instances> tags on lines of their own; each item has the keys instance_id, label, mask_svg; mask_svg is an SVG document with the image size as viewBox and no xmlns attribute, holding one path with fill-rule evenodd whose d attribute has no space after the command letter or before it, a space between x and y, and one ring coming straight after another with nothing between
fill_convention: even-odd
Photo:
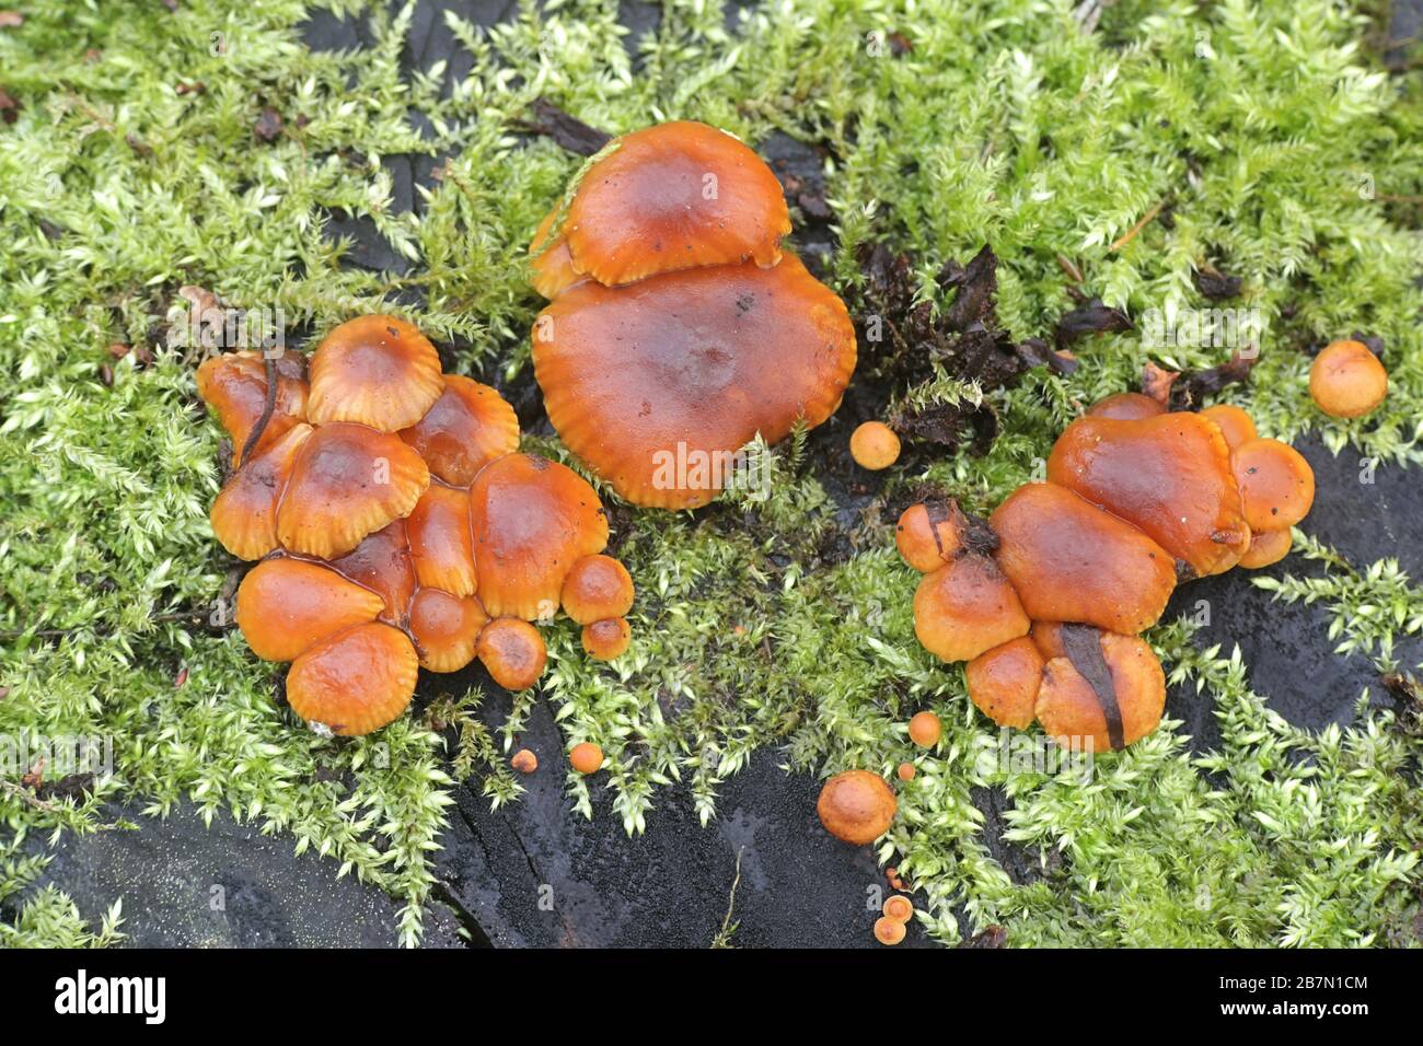
<instances>
[{"instance_id":1,"label":"two largest overlapping orange-brown mushroom caps at top centre","mask_svg":"<svg viewBox=\"0 0 1423 1046\"><path fill-rule=\"evenodd\" d=\"M739 453L818 426L855 369L840 297L781 249L780 182L672 122L609 142L539 225L534 369L559 437L636 505L696 508Z\"/></svg>"}]
</instances>

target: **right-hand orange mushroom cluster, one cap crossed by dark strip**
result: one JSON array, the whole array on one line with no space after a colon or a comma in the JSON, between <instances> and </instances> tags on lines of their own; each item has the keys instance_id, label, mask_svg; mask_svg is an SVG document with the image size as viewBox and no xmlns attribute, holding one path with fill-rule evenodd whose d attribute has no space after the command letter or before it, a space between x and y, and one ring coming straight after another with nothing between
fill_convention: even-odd
<instances>
[{"instance_id":1,"label":"right-hand orange mushroom cluster, one cap crossed by dark strip","mask_svg":"<svg viewBox=\"0 0 1423 1046\"><path fill-rule=\"evenodd\" d=\"M968 662L969 697L999 726L1036 719L1064 747L1121 749L1165 704L1138 633L1180 581L1282 559L1313 495L1305 458L1258 438L1239 407L1168 413L1113 396L1067 426L1046 482L986 522L952 501L905 509L899 554L925 575L915 633Z\"/></svg>"}]
</instances>

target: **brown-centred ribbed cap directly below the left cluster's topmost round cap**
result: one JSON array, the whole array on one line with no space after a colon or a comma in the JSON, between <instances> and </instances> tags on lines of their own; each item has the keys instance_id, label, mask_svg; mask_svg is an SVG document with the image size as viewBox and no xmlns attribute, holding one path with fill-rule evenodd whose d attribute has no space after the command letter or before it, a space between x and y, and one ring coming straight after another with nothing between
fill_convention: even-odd
<instances>
[{"instance_id":1,"label":"brown-centred ribbed cap directly below the left cluster's topmost round cap","mask_svg":"<svg viewBox=\"0 0 1423 1046\"><path fill-rule=\"evenodd\" d=\"M320 426L296 455L276 512L282 545L334 559L393 519L410 515L430 485L425 463L391 433Z\"/></svg>"}]
</instances>

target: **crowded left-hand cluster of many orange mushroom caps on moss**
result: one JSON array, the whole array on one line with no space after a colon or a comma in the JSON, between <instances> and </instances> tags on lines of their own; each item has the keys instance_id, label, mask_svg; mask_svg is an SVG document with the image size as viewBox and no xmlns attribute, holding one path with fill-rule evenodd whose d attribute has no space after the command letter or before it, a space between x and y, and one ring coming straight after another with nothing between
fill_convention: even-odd
<instances>
[{"instance_id":1,"label":"crowded left-hand cluster of many orange mushroom caps on moss","mask_svg":"<svg viewBox=\"0 0 1423 1046\"><path fill-rule=\"evenodd\" d=\"M259 657L292 662L286 696L309 723L370 733L404 712L420 667L475 657L532 686L546 650L531 622L559 606L592 656L628 649L633 585L602 555L596 491L518 453L514 408L444 374L413 324L350 320L309 361L213 356L198 391L235 447L213 534L259 561L236 623Z\"/></svg>"}]
</instances>

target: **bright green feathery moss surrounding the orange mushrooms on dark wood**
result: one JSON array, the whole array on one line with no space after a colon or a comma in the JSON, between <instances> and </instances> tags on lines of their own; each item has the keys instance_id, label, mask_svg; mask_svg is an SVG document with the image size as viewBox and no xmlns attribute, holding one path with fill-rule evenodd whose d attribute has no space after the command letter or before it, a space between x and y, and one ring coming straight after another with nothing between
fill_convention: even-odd
<instances>
[{"instance_id":1,"label":"bright green feathery moss surrounding the orange mushrooms on dark wood","mask_svg":"<svg viewBox=\"0 0 1423 1046\"><path fill-rule=\"evenodd\" d=\"M4 939L112 939L112 926L90 936L63 897L20 894L43 861L18 844L95 830L102 800L138 796L155 811L181 798L228 810L330 855L404 898L416 941L451 773L517 800L504 759L534 697L494 733L474 719L475 693L371 739L322 740L275 706L276 676L240 638L191 623L229 565L206 524L218 431L195 401L192 360L158 334L184 285L279 306L313 333L396 309L451 342L462 367L527 380L538 302L524 245L579 167L511 134L536 95L612 131L689 117L748 141L778 128L827 142L832 273L852 303L854 250L881 238L914 252L925 287L943 260L990 242L999 312L1020 337L1070 306L1059 256L1134 316L1207 305L1191 270L1212 263L1244 278L1241 305L1268 324L1249 387L1229 394L1265 433L1315 430L1336 450L1352 441L1416 465L1423 74L1386 78L1355 44L1362 19L1325 0L1118 3L1094 33L1072 7L801 0L727 33L717 4L667 3L635 73L615 3L561 4L548 21L525 3L488 33L451 19L468 75L408 83L410 11L379 6L361 14L379 44L357 54L309 53L305 6L286 0L57 4L0 30L0 87L20 102L0 124L0 731L115 739L115 777L90 798L37 808L0 793L0 902L24 897ZM889 57L877 31L912 50ZM283 120L270 144L253 137L266 107ZM381 158L394 154L453 157L413 212L391 199ZM374 222L408 272L342 268L349 245L322 232L333 211ZM1390 398L1365 421L1326 421L1301 349L1353 330L1385 340ZM111 342L147 344L155 360L115 363ZM1221 356L1151 350L1133 333L1077 349L1072 377L1035 373L990 394L1005 434L988 455L901 482L929 478L990 507L1081 403L1134 383L1147 359ZM602 744L612 814L629 831L672 787L712 818L717 787L757 747L781 746L804 770L889 771L909 753L906 713L926 704L945 739L918 757L885 855L931 898L921 918L946 941L989 922L1017 944L1406 939L1420 810L1402 768L1419 741L1390 716L1295 730L1238 656L1200 649L1178 622L1153 640L1173 677L1215 703L1221 753L1192 757L1168 723L1099 760L1087 783L983 760L998 734L968 706L962 673L914 639L915 579L892 552L892 521L871 507L848 548L835 545L801 441L770 455L764 502L626 515L619 551L640 591L626 659L591 663L566 622L551 632L541 699L569 743ZM1392 635L1419 629L1416 589L1386 565L1311 585L1279 592L1328 601L1360 655L1387 662ZM1366 605L1380 611L1360 623ZM455 744L431 724L453 724ZM1010 841L1043 855L1036 884L1015 884L990 855L973 803L985 787L1013 803ZM581 778L569 793L609 815Z\"/></svg>"}]
</instances>

